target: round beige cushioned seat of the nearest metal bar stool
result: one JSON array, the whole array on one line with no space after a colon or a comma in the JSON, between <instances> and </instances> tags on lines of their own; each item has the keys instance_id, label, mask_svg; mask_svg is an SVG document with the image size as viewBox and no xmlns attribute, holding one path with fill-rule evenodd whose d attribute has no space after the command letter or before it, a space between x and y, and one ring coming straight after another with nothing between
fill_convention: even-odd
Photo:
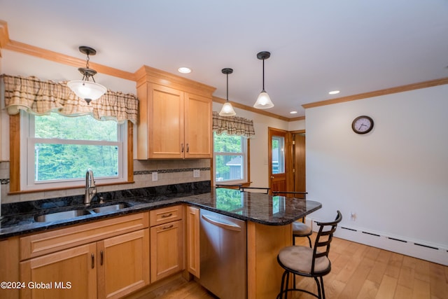
<instances>
[{"instance_id":1,"label":"round beige cushioned seat of the nearest metal bar stool","mask_svg":"<svg viewBox=\"0 0 448 299\"><path fill-rule=\"evenodd\" d=\"M311 276L311 265L313 263L312 248L306 246L288 246L281 249L278 259L288 269ZM326 256L316 258L314 262L314 274L328 272L330 268L330 260Z\"/></svg>"}]
</instances>

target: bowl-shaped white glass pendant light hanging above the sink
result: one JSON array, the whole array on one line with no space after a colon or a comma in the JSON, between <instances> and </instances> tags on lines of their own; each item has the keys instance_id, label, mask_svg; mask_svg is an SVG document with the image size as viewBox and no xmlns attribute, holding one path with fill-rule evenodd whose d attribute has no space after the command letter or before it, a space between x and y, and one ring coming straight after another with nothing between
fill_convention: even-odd
<instances>
[{"instance_id":1,"label":"bowl-shaped white glass pendant light hanging above the sink","mask_svg":"<svg viewBox=\"0 0 448 299\"><path fill-rule=\"evenodd\" d=\"M90 102L94 101L95 99L99 99L99 97L104 95L104 93L106 93L107 91L107 88L95 82L93 76L97 74L97 71L89 68L89 55L95 55L97 54L97 51L87 46L80 46L79 51L80 53L87 55L85 68L80 67L78 69L78 71L83 74L83 79L69 81L67 82L67 85L73 92L75 92L78 97L84 99L88 105L90 104ZM89 81L90 78L92 78L92 81Z\"/></svg>"}]
</instances>

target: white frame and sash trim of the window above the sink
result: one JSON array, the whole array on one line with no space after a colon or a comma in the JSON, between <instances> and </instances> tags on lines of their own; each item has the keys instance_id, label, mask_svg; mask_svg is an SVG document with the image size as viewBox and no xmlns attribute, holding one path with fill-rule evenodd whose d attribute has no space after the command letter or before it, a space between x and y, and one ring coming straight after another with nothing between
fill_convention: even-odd
<instances>
[{"instance_id":1,"label":"white frame and sash trim of the window above the sink","mask_svg":"<svg viewBox=\"0 0 448 299\"><path fill-rule=\"evenodd\" d=\"M116 145L118 146L118 176L97 177L97 184L123 183L127 181L127 122L118 125L118 141L73 141L63 139L34 138L34 116L20 111L20 189L47 190L57 188L76 188L85 185L85 178L66 179L57 181L34 181L34 144L35 141L45 141L53 144L87 144L87 145ZM11 149L12 150L12 149ZM92 169L94 172L94 169Z\"/></svg>"}]
</instances>

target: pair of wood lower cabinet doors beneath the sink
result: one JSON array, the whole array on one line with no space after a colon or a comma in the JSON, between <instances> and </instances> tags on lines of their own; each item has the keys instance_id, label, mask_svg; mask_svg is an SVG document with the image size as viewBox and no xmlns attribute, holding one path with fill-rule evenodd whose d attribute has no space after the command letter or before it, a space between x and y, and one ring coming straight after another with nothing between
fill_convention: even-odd
<instances>
[{"instance_id":1,"label":"pair of wood lower cabinet doors beneath the sink","mask_svg":"<svg viewBox=\"0 0 448 299\"><path fill-rule=\"evenodd\" d=\"M39 284L22 298L120 298L149 283L149 230L138 230L20 263L20 280Z\"/></svg>"}]
</instances>

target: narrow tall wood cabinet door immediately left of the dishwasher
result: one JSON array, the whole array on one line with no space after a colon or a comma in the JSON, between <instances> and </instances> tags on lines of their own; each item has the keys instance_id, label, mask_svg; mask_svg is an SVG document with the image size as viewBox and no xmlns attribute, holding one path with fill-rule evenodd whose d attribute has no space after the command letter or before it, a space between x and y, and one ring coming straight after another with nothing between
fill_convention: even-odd
<instances>
[{"instance_id":1,"label":"narrow tall wood cabinet door immediately left of the dishwasher","mask_svg":"<svg viewBox=\"0 0 448 299\"><path fill-rule=\"evenodd\" d=\"M199 224L200 209L187 209L187 269L188 272L200 278L200 242Z\"/></svg>"}]
</instances>

